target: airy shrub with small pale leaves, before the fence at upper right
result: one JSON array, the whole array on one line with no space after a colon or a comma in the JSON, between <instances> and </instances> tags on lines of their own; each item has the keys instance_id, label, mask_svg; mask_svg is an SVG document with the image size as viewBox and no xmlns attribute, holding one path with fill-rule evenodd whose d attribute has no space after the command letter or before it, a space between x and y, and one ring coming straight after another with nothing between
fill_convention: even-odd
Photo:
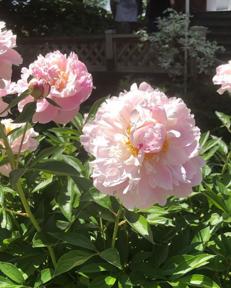
<instances>
[{"instance_id":1,"label":"airy shrub with small pale leaves, before the fence at upper right","mask_svg":"<svg viewBox=\"0 0 231 288\"><path fill-rule=\"evenodd\" d=\"M184 74L185 50L195 59L198 72L207 72L214 63L215 54L224 48L215 41L206 40L200 27L186 31L190 25L188 14L178 14L172 9L167 12L170 12L168 17L157 20L158 32L148 35L141 31L142 40L151 42L158 64L168 70L170 76Z\"/></svg>"}]
</instances>

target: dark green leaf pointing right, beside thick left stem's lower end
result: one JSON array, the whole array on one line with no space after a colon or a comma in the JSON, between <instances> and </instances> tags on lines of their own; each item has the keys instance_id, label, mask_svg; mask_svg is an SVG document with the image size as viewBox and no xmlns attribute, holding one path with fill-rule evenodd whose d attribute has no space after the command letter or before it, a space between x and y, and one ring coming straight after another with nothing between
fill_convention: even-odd
<instances>
[{"instance_id":1,"label":"dark green leaf pointing right, beside thick left stem's lower end","mask_svg":"<svg viewBox=\"0 0 231 288\"><path fill-rule=\"evenodd\" d=\"M63 232L49 233L49 234L51 234L53 237L55 237L61 241L70 243L72 245L76 245L79 247L83 247L86 249L97 251L96 246L91 242L91 240L89 240L86 236L84 236L82 234L63 233Z\"/></svg>"}]
</instances>

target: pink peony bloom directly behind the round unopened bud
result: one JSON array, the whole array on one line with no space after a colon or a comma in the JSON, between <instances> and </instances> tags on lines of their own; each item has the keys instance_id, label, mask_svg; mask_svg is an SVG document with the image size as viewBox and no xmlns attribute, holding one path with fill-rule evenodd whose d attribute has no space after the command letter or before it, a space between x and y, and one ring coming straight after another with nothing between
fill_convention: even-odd
<instances>
[{"instance_id":1,"label":"pink peony bloom directly behind the round unopened bud","mask_svg":"<svg viewBox=\"0 0 231 288\"><path fill-rule=\"evenodd\" d=\"M52 120L60 124L70 122L76 116L79 105L91 95L93 89L92 76L75 53L71 53L68 58L59 51L49 53L45 57L39 55L38 60L30 64L29 69L22 68L21 72L22 79L17 83L19 94L28 88L29 75L34 75L36 78L43 78L51 85L48 98L62 107L60 109L45 99L39 99L32 119L34 123L48 123ZM19 111L26 103L32 101L34 101L32 96L22 100L19 103Z\"/></svg>"}]
</instances>

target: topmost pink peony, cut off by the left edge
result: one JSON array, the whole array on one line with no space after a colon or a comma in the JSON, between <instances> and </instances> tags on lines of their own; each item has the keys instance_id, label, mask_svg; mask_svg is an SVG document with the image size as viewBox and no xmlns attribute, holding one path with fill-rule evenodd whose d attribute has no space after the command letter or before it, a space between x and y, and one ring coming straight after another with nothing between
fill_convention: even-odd
<instances>
[{"instance_id":1,"label":"topmost pink peony, cut off by the left edge","mask_svg":"<svg viewBox=\"0 0 231 288\"><path fill-rule=\"evenodd\" d=\"M11 79L12 64L22 63L21 56L13 49L16 47L16 35L11 30L1 31L4 27L5 23L0 22L0 89L5 87L3 79Z\"/></svg>"}]
</instances>

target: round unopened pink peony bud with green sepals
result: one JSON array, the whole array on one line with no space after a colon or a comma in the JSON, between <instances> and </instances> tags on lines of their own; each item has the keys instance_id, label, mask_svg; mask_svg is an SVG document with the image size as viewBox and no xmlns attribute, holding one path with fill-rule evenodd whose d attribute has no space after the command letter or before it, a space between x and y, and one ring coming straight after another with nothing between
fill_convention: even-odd
<instances>
[{"instance_id":1,"label":"round unopened pink peony bud with green sepals","mask_svg":"<svg viewBox=\"0 0 231 288\"><path fill-rule=\"evenodd\" d=\"M28 85L31 96L36 99L46 98L51 91L50 84L43 78L33 78Z\"/></svg>"}]
</instances>

